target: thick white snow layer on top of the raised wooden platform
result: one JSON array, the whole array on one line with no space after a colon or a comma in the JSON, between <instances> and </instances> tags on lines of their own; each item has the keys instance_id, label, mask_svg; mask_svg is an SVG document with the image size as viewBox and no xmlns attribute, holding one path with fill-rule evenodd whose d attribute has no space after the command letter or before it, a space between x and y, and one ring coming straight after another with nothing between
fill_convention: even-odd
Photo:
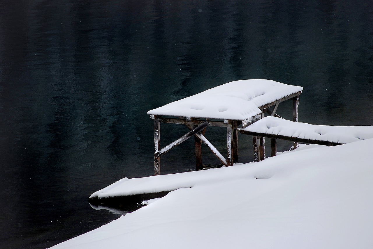
<instances>
[{"instance_id":1,"label":"thick white snow layer on top of the raised wooden platform","mask_svg":"<svg viewBox=\"0 0 373 249\"><path fill-rule=\"evenodd\" d=\"M258 107L303 90L273 80L237 80L148 111L151 115L245 120Z\"/></svg>"}]
</instances>

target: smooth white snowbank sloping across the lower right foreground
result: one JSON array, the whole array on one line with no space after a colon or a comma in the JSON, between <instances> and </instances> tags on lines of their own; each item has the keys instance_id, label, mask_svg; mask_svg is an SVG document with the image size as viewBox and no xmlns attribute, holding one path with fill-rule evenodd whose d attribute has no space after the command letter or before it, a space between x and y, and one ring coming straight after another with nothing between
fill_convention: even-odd
<instances>
[{"instance_id":1,"label":"smooth white snowbank sloping across the lower right foreground","mask_svg":"<svg viewBox=\"0 0 373 249\"><path fill-rule=\"evenodd\" d=\"M368 139L201 171L220 178L53 249L373 248L372 146Z\"/></svg>"}]
</instances>

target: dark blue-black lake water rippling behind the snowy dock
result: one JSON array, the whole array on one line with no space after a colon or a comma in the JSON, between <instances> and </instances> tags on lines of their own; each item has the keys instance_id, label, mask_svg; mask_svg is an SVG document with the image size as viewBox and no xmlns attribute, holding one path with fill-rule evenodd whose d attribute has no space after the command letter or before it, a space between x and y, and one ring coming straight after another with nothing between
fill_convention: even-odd
<instances>
[{"instance_id":1,"label":"dark blue-black lake water rippling behind the snowy dock","mask_svg":"<svg viewBox=\"0 0 373 249\"><path fill-rule=\"evenodd\" d=\"M119 217L88 197L153 174L147 111L239 79L303 86L301 122L373 125L373 2L1 0L0 248L47 248ZM162 129L164 145L187 131ZM162 173L192 168L193 143Z\"/></svg>"}]
</instances>

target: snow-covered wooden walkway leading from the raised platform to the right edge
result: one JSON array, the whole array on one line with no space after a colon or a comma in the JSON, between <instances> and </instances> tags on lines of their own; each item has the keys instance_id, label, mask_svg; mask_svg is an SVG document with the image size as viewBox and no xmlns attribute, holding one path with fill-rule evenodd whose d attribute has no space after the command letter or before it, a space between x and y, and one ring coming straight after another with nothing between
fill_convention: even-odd
<instances>
[{"instance_id":1,"label":"snow-covered wooden walkway leading from the raised platform to the right edge","mask_svg":"<svg viewBox=\"0 0 373 249\"><path fill-rule=\"evenodd\" d=\"M297 139L303 143L325 141L325 145L327 143L346 144L373 138L373 126L313 125L273 116L267 116L248 127L239 128L239 130L241 133L251 135L263 135L285 140Z\"/></svg>"}]
</instances>

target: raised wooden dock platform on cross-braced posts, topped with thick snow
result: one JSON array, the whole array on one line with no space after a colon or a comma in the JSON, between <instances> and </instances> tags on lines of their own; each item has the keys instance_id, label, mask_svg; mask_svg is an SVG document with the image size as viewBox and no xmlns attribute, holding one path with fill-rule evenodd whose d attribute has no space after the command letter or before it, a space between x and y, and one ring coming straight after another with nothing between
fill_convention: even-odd
<instances>
[{"instance_id":1,"label":"raised wooden dock platform on cross-braced posts, topped with thick snow","mask_svg":"<svg viewBox=\"0 0 373 249\"><path fill-rule=\"evenodd\" d=\"M289 99L293 100L293 121L297 122L302 90L273 80L237 80L148 111L154 119L154 175L160 174L162 154L190 137L195 137L196 169L202 167L202 141L223 165L232 165L238 159L238 125L247 127L263 118L270 106L274 106L271 113L276 115L279 103ZM191 131L161 149L160 123L185 124ZM226 127L227 159L205 137L207 126Z\"/></svg>"}]
</instances>

